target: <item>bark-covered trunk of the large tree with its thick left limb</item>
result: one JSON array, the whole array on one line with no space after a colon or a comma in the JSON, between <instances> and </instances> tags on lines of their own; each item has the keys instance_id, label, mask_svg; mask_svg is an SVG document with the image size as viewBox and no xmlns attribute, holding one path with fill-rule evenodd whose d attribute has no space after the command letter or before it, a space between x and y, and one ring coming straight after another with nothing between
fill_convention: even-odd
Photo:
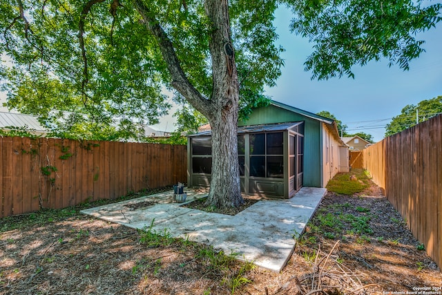
<instances>
[{"instance_id":1,"label":"bark-covered trunk of the large tree with its thick left limb","mask_svg":"<svg viewBox=\"0 0 442 295\"><path fill-rule=\"evenodd\" d=\"M211 21L213 93L203 97L184 74L175 48L166 32L142 0L133 0L146 28L155 35L173 79L172 86L209 120L212 129L212 179L207 204L219 208L238 207L241 196L238 166L239 84L231 43L227 0L206 0L204 8Z\"/></svg>"}]
</instances>

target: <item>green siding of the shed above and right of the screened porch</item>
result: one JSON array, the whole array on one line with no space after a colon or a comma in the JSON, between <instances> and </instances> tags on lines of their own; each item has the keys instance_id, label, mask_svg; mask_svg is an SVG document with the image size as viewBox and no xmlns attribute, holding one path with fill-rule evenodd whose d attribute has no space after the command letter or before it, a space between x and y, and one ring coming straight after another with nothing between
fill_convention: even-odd
<instances>
[{"instance_id":1,"label":"green siding of the shed above and right of the screened porch","mask_svg":"<svg viewBox=\"0 0 442 295\"><path fill-rule=\"evenodd\" d=\"M249 120L238 122L238 126L274 124L304 121L304 180L305 187L321 185L320 122L305 115L288 111L275 105L256 108Z\"/></svg>"}]
</instances>

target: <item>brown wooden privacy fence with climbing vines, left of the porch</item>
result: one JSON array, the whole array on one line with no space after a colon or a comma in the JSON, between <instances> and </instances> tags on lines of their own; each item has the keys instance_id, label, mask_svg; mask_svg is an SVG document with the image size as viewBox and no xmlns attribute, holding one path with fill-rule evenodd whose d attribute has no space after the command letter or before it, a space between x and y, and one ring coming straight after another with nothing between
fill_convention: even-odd
<instances>
[{"instance_id":1,"label":"brown wooden privacy fence with climbing vines, left of the porch","mask_svg":"<svg viewBox=\"0 0 442 295\"><path fill-rule=\"evenodd\" d=\"M186 146L0 137L0 217L185 182Z\"/></svg>"}]
</instances>

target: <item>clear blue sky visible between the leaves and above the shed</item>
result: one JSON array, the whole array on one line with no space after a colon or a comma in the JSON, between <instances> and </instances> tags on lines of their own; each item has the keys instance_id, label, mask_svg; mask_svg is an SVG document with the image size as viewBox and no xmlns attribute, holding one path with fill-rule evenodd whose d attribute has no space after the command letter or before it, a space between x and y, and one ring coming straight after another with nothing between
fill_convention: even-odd
<instances>
[{"instance_id":1,"label":"clear blue sky visible between the leaves and above the shed","mask_svg":"<svg viewBox=\"0 0 442 295\"><path fill-rule=\"evenodd\" d=\"M424 1L437 3L437 1ZM276 12L277 43L285 48L282 58L285 66L276 86L265 88L272 99L301 108L311 113L329 111L347 125L347 132L365 132L382 140L385 125L399 115L407 104L418 104L424 99L442 95L442 23L418 35L425 40L425 52L410 63L410 70L398 66L388 67L388 61L372 61L353 68L355 78L332 78L327 81L311 80L304 71L304 62L311 54L312 44L307 39L291 34L291 14L285 8ZM4 101L5 94L0 93ZM0 111L5 111L1 108ZM159 131L175 129L175 109L153 125Z\"/></svg>"}]
</instances>

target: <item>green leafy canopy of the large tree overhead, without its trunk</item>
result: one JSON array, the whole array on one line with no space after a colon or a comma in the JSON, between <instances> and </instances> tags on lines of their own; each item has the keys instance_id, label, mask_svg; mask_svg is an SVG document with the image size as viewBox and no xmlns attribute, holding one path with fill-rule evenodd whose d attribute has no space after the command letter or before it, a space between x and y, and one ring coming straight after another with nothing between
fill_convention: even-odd
<instances>
[{"instance_id":1,"label":"green leafy canopy of the large tree overhead, without its trunk","mask_svg":"<svg viewBox=\"0 0 442 295\"><path fill-rule=\"evenodd\" d=\"M142 125L157 123L169 108L164 88L172 88L171 75L137 3L162 24L184 73L210 97L210 19L202 1L13 0L0 4L0 52L12 63L0 70L8 106L38 115L65 136L138 137ZM420 3L230 1L240 115L265 104L263 86L274 86L280 75L283 49L275 45L273 27L278 6L291 9L292 30L316 44L306 70L328 79L353 77L354 64L382 57L408 68L423 50L415 33L440 20L440 4ZM175 91L175 99L183 98Z\"/></svg>"}]
</instances>

